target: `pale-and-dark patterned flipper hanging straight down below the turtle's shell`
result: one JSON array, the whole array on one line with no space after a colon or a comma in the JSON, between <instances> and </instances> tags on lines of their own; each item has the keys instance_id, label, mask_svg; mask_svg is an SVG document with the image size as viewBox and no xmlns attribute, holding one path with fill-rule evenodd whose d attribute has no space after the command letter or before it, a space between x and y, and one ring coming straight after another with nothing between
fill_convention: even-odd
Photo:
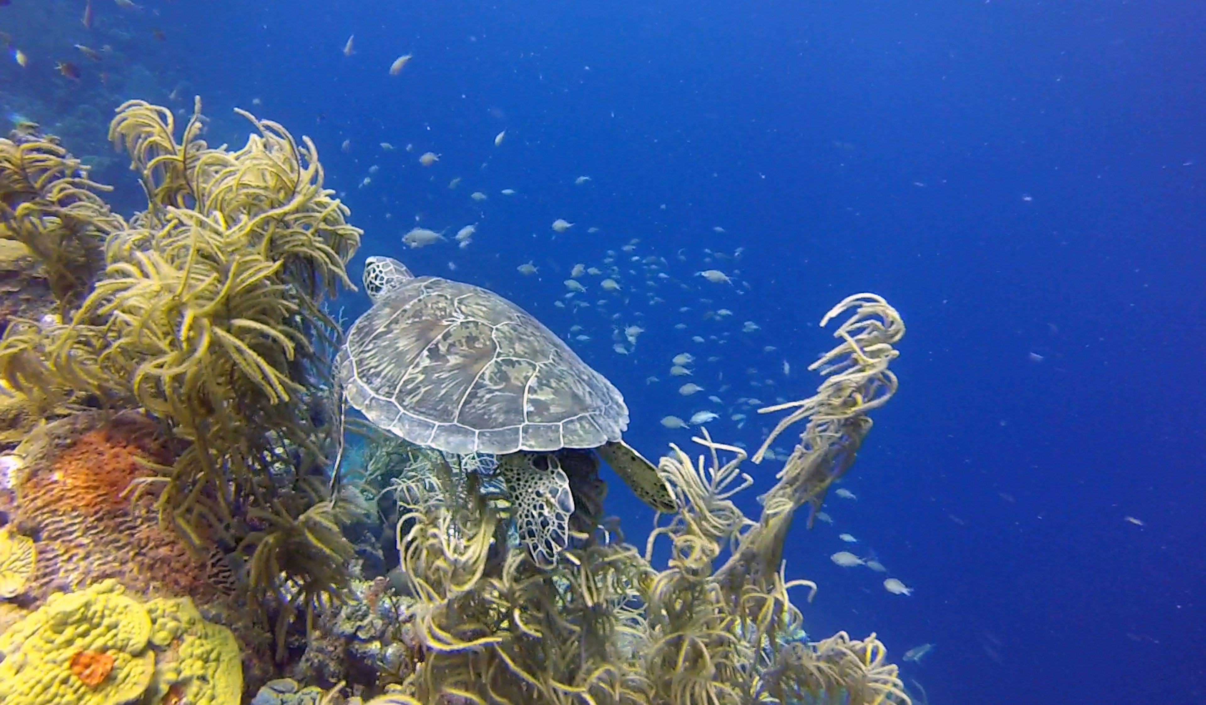
<instances>
[{"instance_id":1,"label":"pale-and-dark patterned flipper hanging straight down below the turtle's shell","mask_svg":"<svg viewBox=\"0 0 1206 705\"><path fill-rule=\"evenodd\" d=\"M552 569L569 542L569 515L574 513L569 477L550 453L509 453L498 459L498 471L511 498L520 542L539 568Z\"/></svg>"}]
</instances>

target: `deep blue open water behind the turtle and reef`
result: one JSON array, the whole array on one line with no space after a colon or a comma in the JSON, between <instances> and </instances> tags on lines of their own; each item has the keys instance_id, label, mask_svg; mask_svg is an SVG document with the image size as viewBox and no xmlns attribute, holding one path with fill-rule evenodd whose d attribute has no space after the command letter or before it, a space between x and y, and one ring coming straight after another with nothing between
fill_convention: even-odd
<instances>
[{"instance_id":1,"label":"deep blue open water behind the turtle and reef","mask_svg":"<svg viewBox=\"0 0 1206 705\"><path fill-rule=\"evenodd\" d=\"M0 10L33 12L22 5ZM72 37L76 5L53 5ZM933 704L1202 699L1206 6L148 0L116 12L98 2L98 23L134 29L122 47L160 87L119 98L166 101L185 82L171 105L200 93L213 142L245 139L234 106L310 135L367 231L353 276L367 254L398 257L590 335L572 345L625 393L646 454L690 446L658 421L701 410L720 415L719 440L756 446L769 424L738 428L732 413L756 415L737 399L810 394L806 368L832 343L820 317L848 294L884 295L908 325L900 393L843 484L857 499L831 495L835 523L801 522L788 551L789 576L820 584L810 631L873 630L896 658L935 644L903 664ZM25 89L57 105L88 89L87 75L64 88L40 58L45 83ZM0 86L19 76L5 66ZM440 160L423 168L428 151ZM574 227L558 235L556 218ZM400 241L416 224L451 237L469 223L464 249ZM622 288L586 276L576 299L591 306L575 313L563 280L578 263L603 268L609 249ZM656 271L671 278L648 286L633 255L665 258ZM516 270L528 262L535 275ZM733 284L693 276L712 268ZM367 299L341 304L355 316ZM720 309L732 316L704 317ZM745 321L760 329L742 333ZM633 324L645 330L621 356L613 327ZM680 352L706 388L690 398L668 376ZM749 471L755 512L774 463ZM610 509L631 539L651 518L614 478ZM838 568L841 550L874 551L913 595Z\"/></svg>"}]
</instances>

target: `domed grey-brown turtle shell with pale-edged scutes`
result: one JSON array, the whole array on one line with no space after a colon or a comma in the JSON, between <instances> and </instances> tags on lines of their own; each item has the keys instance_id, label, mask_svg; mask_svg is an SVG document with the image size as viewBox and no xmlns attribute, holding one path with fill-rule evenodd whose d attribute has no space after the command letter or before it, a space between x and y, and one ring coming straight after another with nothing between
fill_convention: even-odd
<instances>
[{"instance_id":1,"label":"domed grey-brown turtle shell with pale-edged scutes","mask_svg":"<svg viewBox=\"0 0 1206 705\"><path fill-rule=\"evenodd\" d=\"M450 453L593 448L628 427L620 392L539 321L439 277L377 300L335 365L369 421Z\"/></svg>"}]
</instances>

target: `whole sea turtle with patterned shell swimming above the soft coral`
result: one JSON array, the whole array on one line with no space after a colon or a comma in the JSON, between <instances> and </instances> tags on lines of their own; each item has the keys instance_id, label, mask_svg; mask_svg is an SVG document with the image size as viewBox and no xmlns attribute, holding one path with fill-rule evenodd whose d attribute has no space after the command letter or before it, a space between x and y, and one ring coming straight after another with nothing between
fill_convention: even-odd
<instances>
[{"instance_id":1,"label":"whole sea turtle with patterned shell swimming above the soft coral","mask_svg":"<svg viewBox=\"0 0 1206 705\"><path fill-rule=\"evenodd\" d=\"M638 498L674 511L657 469L620 440L624 396L534 317L386 257L368 258L364 289L373 306L335 359L347 403L412 443L499 456L520 540L538 564L551 566L568 541L563 448L597 450Z\"/></svg>"}]
</instances>

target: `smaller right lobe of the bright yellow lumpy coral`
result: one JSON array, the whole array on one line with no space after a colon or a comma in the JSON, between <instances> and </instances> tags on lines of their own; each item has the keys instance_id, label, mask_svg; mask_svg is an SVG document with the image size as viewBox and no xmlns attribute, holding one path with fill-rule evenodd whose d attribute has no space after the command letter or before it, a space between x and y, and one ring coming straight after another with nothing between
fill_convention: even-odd
<instances>
[{"instance_id":1,"label":"smaller right lobe of the bright yellow lumpy coral","mask_svg":"<svg viewBox=\"0 0 1206 705\"><path fill-rule=\"evenodd\" d=\"M229 629L201 617L188 598L147 603L151 642L165 651L156 669L154 703L169 691L192 705L238 705L242 694L242 654Z\"/></svg>"}]
</instances>

